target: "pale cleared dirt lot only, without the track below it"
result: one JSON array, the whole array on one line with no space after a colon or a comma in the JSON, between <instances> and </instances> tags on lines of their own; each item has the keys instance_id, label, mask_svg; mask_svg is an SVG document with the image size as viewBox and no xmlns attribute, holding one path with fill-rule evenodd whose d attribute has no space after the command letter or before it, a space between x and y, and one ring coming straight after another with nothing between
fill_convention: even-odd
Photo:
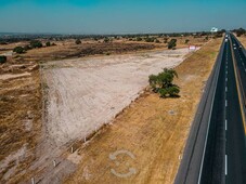
<instances>
[{"instance_id":1,"label":"pale cleared dirt lot only, without the track below it","mask_svg":"<svg viewBox=\"0 0 246 184\"><path fill-rule=\"evenodd\" d=\"M187 53L180 49L44 65L50 136L57 146L88 136L135 100L151 74L179 65Z\"/></svg>"}]
</instances>

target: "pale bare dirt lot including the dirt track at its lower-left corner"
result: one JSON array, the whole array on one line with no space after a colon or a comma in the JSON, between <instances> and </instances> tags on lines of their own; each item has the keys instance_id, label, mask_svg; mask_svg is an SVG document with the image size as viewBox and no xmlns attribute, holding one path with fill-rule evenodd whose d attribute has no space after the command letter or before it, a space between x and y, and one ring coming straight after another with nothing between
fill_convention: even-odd
<instances>
[{"instance_id":1,"label":"pale bare dirt lot including the dirt track at its lower-left corner","mask_svg":"<svg viewBox=\"0 0 246 184\"><path fill-rule=\"evenodd\" d=\"M38 157L23 180L61 183L75 172L80 156L70 147L76 150L80 140L89 140L135 100L150 74L179 65L185 54L187 49L42 64L46 124Z\"/></svg>"}]
</instances>

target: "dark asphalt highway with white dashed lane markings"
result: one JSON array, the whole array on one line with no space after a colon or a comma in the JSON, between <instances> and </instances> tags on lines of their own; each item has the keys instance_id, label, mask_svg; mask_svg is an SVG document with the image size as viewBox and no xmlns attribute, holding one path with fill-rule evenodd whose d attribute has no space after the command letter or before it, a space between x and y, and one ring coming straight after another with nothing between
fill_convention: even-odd
<instances>
[{"instance_id":1,"label":"dark asphalt highway with white dashed lane markings","mask_svg":"<svg viewBox=\"0 0 246 184\"><path fill-rule=\"evenodd\" d=\"M226 35L191 128L177 184L246 183L246 56L239 42Z\"/></svg>"}]
</instances>

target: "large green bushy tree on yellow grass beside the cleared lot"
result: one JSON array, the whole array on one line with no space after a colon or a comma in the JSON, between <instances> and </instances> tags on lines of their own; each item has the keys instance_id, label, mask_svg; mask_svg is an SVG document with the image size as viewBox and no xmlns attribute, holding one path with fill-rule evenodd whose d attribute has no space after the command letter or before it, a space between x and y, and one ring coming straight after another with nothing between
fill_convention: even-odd
<instances>
[{"instance_id":1,"label":"large green bushy tree on yellow grass beside the cleared lot","mask_svg":"<svg viewBox=\"0 0 246 184\"><path fill-rule=\"evenodd\" d=\"M148 82L153 91L160 94L160 97L173 97L178 96L180 92L180 88L172 83L174 77L178 78L178 74L174 69L165 68L164 71L159 73L157 76L151 75Z\"/></svg>"}]
</instances>

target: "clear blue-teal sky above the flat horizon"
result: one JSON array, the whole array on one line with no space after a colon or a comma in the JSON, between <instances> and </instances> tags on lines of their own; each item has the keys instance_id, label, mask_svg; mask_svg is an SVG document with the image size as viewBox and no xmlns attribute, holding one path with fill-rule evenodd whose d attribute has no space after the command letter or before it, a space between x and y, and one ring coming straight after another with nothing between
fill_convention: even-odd
<instances>
[{"instance_id":1,"label":"clear blue-teal sky above the flat horizon","mask_svg":"<svg viewBox=\"0 0 246 184\"><path fill-rule=\"evenodd\" d=\"M246 0L0 0L0 32L193 31L245 19Z\"/></svg>"}]
</instances>

